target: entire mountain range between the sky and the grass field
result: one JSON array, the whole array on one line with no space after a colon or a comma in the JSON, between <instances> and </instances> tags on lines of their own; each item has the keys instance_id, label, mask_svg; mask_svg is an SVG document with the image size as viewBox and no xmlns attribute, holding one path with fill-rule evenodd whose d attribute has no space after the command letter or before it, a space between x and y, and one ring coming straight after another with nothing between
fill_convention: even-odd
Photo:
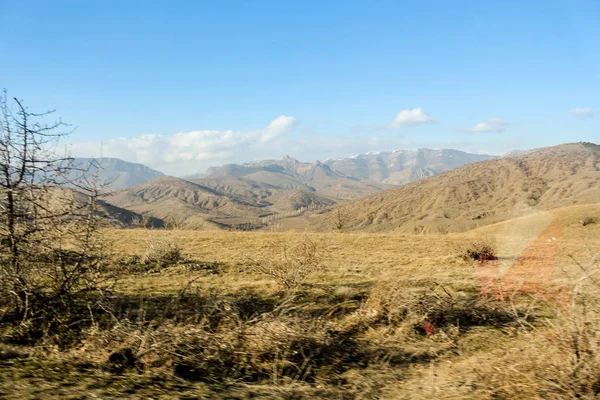
<instances>
[{"instance_id":1,"label":"entire mountain range between the sky and the grass field","mask_svg":"<svg viewBox=\"0 0 600 400\"><path fill-rule=\"evenodd\" d=\"M593 202L597 149L574 143L501 157L417 149L314 163L286 156L185 179L103 159L103 175L120 187L103 200L154 225L191 229L330 230L343 215L348 231L447 232Z\"/></svg>"}]
</instances>

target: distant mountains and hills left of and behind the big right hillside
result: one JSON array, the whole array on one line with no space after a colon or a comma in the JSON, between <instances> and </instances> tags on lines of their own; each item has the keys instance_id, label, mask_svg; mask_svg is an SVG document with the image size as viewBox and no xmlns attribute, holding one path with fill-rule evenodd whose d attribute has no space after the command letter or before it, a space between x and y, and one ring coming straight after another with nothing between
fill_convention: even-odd
<instances>
[{"instance_id":1,"label":"distant mountains and hills left of and behind the big right hillside","mask_svg":"<svg viewBox=\"0 0 600 400\"><path fill-rule=\"evenodd\" d=\"M495 157L429 149L314 163L286 156L212 167L186 179L102 159L101 175L112 181L114 190L104 199L115 206L188 228L257 229L491 158Z\"/></svg>"}]
</instances>

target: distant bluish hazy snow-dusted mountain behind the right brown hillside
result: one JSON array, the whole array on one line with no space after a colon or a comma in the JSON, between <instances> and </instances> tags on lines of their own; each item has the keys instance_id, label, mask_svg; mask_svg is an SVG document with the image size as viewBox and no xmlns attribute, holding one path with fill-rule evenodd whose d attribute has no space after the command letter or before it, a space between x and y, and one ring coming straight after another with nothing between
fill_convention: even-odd
<instances>
[{"instance_id":1,"label":"distant bluish hazy snow-dusted mountain behind the right brown hillside","mask_svg":"<svg viewBox=\"0 0 600 400\"><path fill-rule=\"evenodd\" d=\"M333 171L353 178L403 185L466 164L496 158L458 150L415 149L367 153L349 158L330 159L324 163Z\"/></svg>"}]
</instances>

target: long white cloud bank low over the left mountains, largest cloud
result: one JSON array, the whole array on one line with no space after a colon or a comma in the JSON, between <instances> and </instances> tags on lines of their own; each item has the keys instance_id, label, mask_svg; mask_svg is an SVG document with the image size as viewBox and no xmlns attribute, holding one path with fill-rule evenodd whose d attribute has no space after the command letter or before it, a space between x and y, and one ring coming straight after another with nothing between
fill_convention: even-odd
<instances>
[{"instance_id":1,"label":"long white cloud bank low over the left mountains, largest cloud","mask_svg":"<svg viewBox=\"0 0 600 400\"><path fill-rule=\"evenodd\" d=\"M264 129L248 131L199 130L174 135L141 135L102 143L71 145L75 157L115 157L148 165L166 174L193 174L224 162L269 157L281 148L299 121L282 115Z\"/></svg>"}]
</instances>

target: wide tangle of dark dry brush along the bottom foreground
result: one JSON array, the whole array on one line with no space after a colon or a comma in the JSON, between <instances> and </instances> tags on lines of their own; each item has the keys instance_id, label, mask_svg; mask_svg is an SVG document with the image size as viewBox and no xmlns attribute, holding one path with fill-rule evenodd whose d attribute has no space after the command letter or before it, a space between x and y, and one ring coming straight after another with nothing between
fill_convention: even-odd
<instances>
[{"instance_id":1,"label":"wide tangle of dark dry brush along the bottom foreground","mask_svg":"<svg viewBox=\"0 0 600 400\"><path fill-rule=\"evenodd\" d=\"M74 353L113 372L162 371L213 384L338 384L346 371L369 364L369 345L360 340L367 325L302 312L288 315L296 302L265 309L256 301L247 304L246 294L239 296L208 296L195 304L184 295L173 296L170 308L195 308L194 320L179 322L176 316L157 317L146 299L144 312L117 316L110 328L92 331ZM251 305L255 312L246 309Z\"/></svg>"}]
</instances>

